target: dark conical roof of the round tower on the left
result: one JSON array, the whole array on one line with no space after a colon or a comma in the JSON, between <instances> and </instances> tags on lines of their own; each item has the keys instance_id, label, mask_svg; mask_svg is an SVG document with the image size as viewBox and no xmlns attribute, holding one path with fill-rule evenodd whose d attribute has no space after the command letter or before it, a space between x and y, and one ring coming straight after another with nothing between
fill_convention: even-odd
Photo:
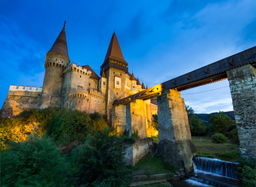
<instances>
[{"instance_id":1,"label":"dark conical roof of the round tower on the left","mask_svg":"<svg viewBox=\"0 0 256 187\"><path fill-rule=\"evenodd\" d=\"M54 44L52 45L52 48L50 49L50 51L48 51L48 53L57 53L69 59L65 24L66 24L66 21L64 22L64 27L62 28L58 38L56 39L56 41L54 42Z\"/></svg>"}]
</instances>

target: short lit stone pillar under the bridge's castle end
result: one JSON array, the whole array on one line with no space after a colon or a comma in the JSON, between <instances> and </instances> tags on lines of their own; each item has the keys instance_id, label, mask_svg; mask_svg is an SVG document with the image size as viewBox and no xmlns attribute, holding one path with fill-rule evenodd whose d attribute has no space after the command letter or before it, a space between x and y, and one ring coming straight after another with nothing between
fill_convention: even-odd
<instances>
[{"instance_id":1,"label":"short lit stone pillar under the bridge's castle end","mask_svg":"<svg viewBox=\"0 0 256 187\"><path fill-rule=\"evenodd\" d=\"M111 110L112 127L116 128L119 135L126 131L126 105L114 106Z\"/></svg>"}]
</instances>

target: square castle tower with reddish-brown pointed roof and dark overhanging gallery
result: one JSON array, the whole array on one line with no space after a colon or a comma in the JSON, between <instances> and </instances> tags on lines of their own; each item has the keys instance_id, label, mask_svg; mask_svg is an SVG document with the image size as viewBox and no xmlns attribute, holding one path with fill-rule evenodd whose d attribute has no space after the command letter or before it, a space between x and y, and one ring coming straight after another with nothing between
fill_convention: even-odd
<instances>
[{"instance_id":1,"label":"square castle tower with reddish-brown pointed roof and dark overhanging gallery","mask_svg":"<svg viewBox=\"0 0 256 187\"><path fill-rule=\"evenodd\" d=\"M114 32L108 46L108 51L102 66L100 75L106 75L106 115L111 119L111 109L114 100L126 96L125 74L128 72L128 63L124 60L121 48Z\"/></svg>"}]
</instances>

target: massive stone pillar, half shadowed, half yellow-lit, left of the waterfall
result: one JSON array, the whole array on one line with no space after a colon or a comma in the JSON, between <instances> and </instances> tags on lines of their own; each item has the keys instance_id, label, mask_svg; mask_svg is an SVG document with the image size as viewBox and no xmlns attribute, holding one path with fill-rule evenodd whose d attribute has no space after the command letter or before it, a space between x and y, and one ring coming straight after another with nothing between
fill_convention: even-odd
<instances>
[{"instance_id":1,"label":"massive stone pillar, half shadowed, half yellow-lit, left of the waterfall","mask_svg":"<svg viewBox=\"0 0 256 187\"><path fill-rule=\"evenodd\" d=\"M193 171L192 159L196 148L191 141L188 114L184 99L176 90L164 90L157 97L158 105L158 152L165 162L185 173Z\"/></svg>"}]
</instances>

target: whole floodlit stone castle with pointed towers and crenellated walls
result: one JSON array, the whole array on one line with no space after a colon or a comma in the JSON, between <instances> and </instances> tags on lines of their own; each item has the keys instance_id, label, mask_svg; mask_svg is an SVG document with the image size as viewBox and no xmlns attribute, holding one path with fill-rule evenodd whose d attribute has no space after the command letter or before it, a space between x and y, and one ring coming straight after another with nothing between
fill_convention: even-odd
<instances>
[{"instance_id":1,"label":"whole floodlit stone castle with pointed towers and crenellated walls","mask_svg":"<svg viewBox=\"0 0 256 187\"><path fill-rule=\"evenodd\" d=\"M2 117L15 116L28 109L67 107L87 113L98 112L112 120L112 103L145 88L144 83L128 72L116 33L114 32L100 67L100 77L89 65L70 64L65 24L52 48L46 53L43 87L11 85ZM151 121L156 114L154 101L146 101L146 115Z\"/></svg>"}]
</instances>

